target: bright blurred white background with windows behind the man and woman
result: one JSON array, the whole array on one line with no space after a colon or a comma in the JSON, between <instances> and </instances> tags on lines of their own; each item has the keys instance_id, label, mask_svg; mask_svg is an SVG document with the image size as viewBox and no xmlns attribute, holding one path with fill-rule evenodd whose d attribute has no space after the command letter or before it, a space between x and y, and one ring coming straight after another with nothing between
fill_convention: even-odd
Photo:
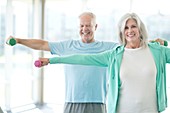
<instances>
[{"instance_id":1,"label":"bright blurred white background with windows behind the man and woman","mask_svg":"<svg viewBox=\"0 0 170 113\"><path fill-rule=\"evenodd\" d=\"M51 54L7 46L10 35L48 41L80 39L78 16L91 11L98 23L95 39L118 42L118 20L135 12L147 26L149 39L170 41L168 4L169 0L0 0L0 107L7 113L62 113L64 104L63 66L34 67L36 59ZM169 70L167 65L167 76ZM169 81L170 77L170 103Z\"/></svg>"}]
</instances>

